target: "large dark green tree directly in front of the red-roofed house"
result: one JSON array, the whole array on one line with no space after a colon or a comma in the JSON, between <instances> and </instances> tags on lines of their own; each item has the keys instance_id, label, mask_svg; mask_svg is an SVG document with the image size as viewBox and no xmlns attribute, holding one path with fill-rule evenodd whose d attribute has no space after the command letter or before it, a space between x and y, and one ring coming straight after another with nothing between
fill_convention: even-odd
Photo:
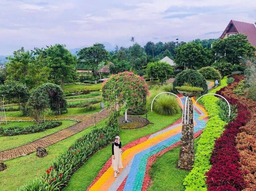
<instances>
[{"instance_id":1,"label":"large dark green tree directly in front of the red-roofed house","mask_svg":"<svg viewBox=\"0 0 256 191\"><path fill-rule=\"evenodd\" d=\"M253 47L244 34L232 35L212 44L212 54L215 59L225 59L226 62L239 64L242 57L253 57L256 48Z\"/></svg>"}]
</instances>

